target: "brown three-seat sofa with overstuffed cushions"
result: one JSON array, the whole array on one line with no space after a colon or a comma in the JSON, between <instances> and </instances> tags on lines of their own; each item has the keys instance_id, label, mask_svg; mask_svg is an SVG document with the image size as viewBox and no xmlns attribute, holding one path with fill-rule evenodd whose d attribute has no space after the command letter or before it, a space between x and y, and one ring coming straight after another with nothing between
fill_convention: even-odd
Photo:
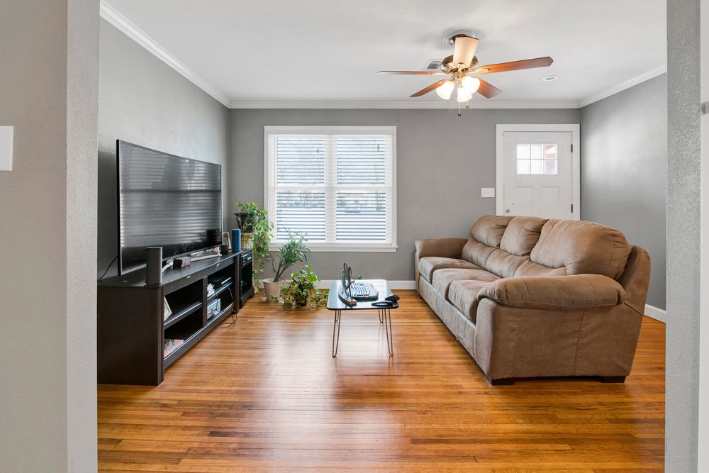
<instances>
[{"instance_id":1,"label":"brown three-seat sofa with overstuffed cushions","mask_svg":"<svg viewBox=\"0 0 709 473\"><path fill-rule=\"evenodd\" d=\"M491 384L630 374L650 259L597 223L484 216L466 238L417 240L418 293Z\"/></svg>"}]
</instances>

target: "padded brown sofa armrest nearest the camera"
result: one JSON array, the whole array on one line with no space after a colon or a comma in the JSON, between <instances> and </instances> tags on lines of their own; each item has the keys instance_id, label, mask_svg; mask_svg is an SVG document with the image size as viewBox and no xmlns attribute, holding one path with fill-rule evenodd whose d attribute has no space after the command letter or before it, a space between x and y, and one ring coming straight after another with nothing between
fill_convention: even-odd
<instances>
[{"instance_id":1,"label":"padded brown sofa armrest nearest the camera","mask_svg":"<svg viewBox=\"0 0 709 473\"><path fill-rule=\"evenodd\" d=\"M601 274L510 277L481 289L478 301L485 298L506 307L574 310L623 304L625 289Z\"/></svg>"}]
</instances>

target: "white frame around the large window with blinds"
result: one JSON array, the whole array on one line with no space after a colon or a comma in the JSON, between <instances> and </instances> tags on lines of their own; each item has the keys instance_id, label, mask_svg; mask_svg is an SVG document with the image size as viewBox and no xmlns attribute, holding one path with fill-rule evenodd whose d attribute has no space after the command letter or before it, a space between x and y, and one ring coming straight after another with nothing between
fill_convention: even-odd
<instances>
[{"instance_id":1,"label":"white frame around the large window with blinds","mask_svg":"<svg viewBox=\"0 0 709 473\"><path fill-rule=\"evenodd\" d=\"M396 126L264 126L264 208L271 209L269 138L272 135L389 135L391 136L391 242L320 243L308 242L313 252L395 252L396 244ZM337 188L337 187L336 187ZM346 189L346 187L344 187ZM284 242L273 240L269 250L277 251Z\"/></svg>"}]
</instances>

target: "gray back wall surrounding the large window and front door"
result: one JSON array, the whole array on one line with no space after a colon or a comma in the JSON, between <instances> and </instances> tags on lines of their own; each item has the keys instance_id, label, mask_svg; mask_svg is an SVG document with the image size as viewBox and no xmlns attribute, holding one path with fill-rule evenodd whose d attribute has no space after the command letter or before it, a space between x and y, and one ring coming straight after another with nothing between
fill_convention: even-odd
<instances>
[{"instance_id":1,"label":"gray back wall surrounding the large window and front door","mask_svg":"<svg viewBox=\"0 0 709 473\"><path fill-rule=\"evenodd\" d=\"M495 213L495 126L498 123L579 123L579 111L232 110L230 208L263 203L264 126L396 126L397 244L391 253L317 252L323 279L338 277L343 260L364 277L413 281L418 238L464 237L481 215ZM233 225L233 218L229 221Z\"/></svg>"}]
</instances>

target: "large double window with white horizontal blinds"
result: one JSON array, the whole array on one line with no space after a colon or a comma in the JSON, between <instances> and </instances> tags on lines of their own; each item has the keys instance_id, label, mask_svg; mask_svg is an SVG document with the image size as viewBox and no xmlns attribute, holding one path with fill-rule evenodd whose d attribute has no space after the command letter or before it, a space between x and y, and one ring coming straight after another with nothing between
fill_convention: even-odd
<instances>
[{"instance_id":1,"label":"large double window with white horizontal blinds","mask_svg":"<svg viewBox=\"0 0 709 473\"><path fill-rule=\"evenodd\" d=\"M274 249L396 250L396 127L267 126L264 206Z\"/></svg>"}]
</instances>

